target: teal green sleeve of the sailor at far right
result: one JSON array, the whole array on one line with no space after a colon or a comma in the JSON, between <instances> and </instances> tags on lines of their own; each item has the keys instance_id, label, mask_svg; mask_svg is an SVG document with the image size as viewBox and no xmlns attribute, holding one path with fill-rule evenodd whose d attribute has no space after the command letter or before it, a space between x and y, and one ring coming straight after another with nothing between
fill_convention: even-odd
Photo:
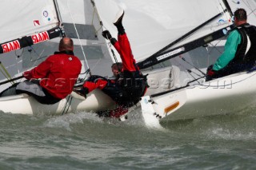
<instances>
[{"instance_id":1,"label":"teal green sleeve of the sailor at far right","mask_svg":"<svg viewBox=\"0 0 256 170\"><path fill-rule=\"evenodd\" d=\"M234 59L235 53L237 52L238 45L240 43L241 35L239 34L238 30L231 31L226 40L224 52L220 57L218 57L218 60L214 64L213 69L215 71L223 69L230 63L231 60Z\"/></svg>"}]
</instances>

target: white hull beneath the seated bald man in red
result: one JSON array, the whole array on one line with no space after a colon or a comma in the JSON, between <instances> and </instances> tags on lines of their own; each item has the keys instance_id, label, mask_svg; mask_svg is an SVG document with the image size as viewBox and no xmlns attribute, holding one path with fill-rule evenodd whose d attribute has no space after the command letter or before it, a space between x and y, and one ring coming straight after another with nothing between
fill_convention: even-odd
<instances>
[{"instance_id":1,"label":"white hull beneath the seated bald man in red","mask_svg":"<svg viewBox=\"0 0 256 170\"><path fill-rule=\"evenodd\" d=\"M34 97L26 94L0 98L0 110L2 112L28 115L62 115L79 111L98 112L115 107L114 101L98 89L89 93L84 101L74 97L66 97L54 105L42 105Z\"/></svg>"}]
</instances>

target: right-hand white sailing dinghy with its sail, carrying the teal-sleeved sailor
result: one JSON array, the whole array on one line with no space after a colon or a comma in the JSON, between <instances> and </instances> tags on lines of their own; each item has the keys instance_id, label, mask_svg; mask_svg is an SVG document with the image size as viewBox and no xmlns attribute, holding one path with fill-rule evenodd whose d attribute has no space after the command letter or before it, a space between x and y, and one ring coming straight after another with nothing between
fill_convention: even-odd
<instances>
[{"instance_id":1,"label":"right-hand white sailing dinghy with its sail, carrying the teal-sleeved sailor","mask_svg":"<svg viewBox=\"0 0 256 170\"><path fill-rule=\"evenodd\" d=\"M126 10L123 24L134 57L142 72L149 73L150 92L141 101L147 125L233 113L255 101L254 70L205 81L206 68L221 54L234 27L232 11L246 9L254 24L255 1L94 2L110 33L116 33L109 22L113 11Z\"/></svg>"}]
</instances>

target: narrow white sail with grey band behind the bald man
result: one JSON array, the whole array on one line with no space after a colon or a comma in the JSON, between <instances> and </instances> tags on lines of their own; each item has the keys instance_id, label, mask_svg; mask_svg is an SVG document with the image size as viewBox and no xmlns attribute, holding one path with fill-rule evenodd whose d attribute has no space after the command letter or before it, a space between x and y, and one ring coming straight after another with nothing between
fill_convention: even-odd
<instances>
[{"instance_id":1,"label":"narrow white sail with grey band behind the bald man","mask_svg":"<svg viewBox=\"0 0 256 170\"><path fill-rule=\"evenodd\" d=\"M110 65L113 61L102 37L103 30L94 3L91 0L58 0L58 7L66 36L73 39L74 53L82 63L86 60L93 74L112 74Z\"/></svg>"}]
</instances>

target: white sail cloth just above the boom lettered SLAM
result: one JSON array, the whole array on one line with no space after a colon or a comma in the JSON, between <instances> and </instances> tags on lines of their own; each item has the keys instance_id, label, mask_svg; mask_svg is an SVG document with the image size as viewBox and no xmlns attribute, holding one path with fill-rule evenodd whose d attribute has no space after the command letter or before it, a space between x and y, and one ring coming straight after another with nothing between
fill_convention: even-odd
<instances>
[{"instance_id":1,"label":"white sail cloth just above the boom lettered SLAM","mask_svg":"<svg viewBox=\"0 0 256 170\"><path fill-rule=\"evenodd\" d=\"M38 34L59 25L53 0L2 0L1 6L0 44ZM42 34L42 38L46 36Z\"/></svg>"}]
</instances>

